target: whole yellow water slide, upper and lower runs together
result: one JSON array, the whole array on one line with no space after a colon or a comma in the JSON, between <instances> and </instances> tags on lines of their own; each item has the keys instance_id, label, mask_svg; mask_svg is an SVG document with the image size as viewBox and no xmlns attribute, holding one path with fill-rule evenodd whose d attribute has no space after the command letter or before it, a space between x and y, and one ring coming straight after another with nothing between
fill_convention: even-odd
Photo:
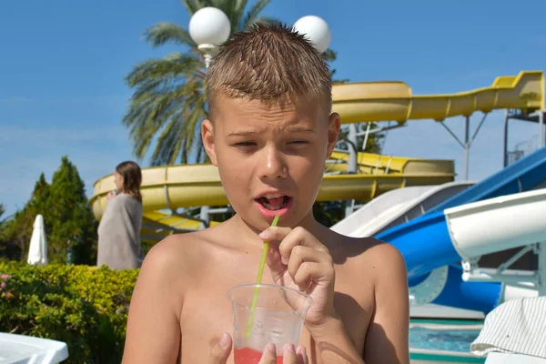
<instances>
[{"instance_id":1,"label":"whole yellow water slide, upper and lower runs together","mask_svg":"<svg viewBox=\"0 0 546 364\"><path fill-rule=\"evenodd\" d=\"M450 95L412 96L402 82L366 82L333 87L333 109L344 124L410 119L444 120L450 116L470 116L475 111L520 109L528 113L544 108L544 78L541 71L518 76L497 77L492 86ZM347 170L348 155L336 152L326 170L319 200L358 199L368 201L391 189L408 186L440 185L454 179L450 160L387 157L359 153L359 174ZM162 238L173 230L194 230L201 223L178 216L179 207L224 206L227 197L217 168L211 165L183 165L144 168L142 195L145 239ZM97 219L106 208L106 194L115 188L114 177L96 181L90 199ZM166 210L162 212L160 210ZM170 212L169 212L170 211Z\"/></svg>"}]
</instances>

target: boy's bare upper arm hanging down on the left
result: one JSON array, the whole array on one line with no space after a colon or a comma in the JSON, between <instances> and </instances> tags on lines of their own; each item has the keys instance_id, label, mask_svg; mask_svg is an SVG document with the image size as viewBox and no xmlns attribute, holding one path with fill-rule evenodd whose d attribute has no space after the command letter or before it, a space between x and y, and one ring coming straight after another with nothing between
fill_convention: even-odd
<instances>
[{"instance_id":1,"label":"boy's bare upper arm hanging down on the left","mask_svg":"<svg viewBox=\"0 0 546 364\"><path fill-rule=\"evenodd\" d=\"M176 255L171 248L165 240L157 244L140 269L127 319L123 364L177 362L183 292L177 291L177 266L172 261Z\"/></svg>"}]
</instances>

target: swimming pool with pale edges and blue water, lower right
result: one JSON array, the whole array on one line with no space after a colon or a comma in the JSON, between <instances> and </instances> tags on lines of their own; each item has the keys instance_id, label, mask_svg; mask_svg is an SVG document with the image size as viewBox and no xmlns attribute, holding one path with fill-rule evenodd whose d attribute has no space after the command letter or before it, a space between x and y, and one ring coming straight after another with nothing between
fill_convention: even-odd
<instances>
[{"instance_id":1,"label":"swimming pool with pale edges and blue water, lower right","mask_svg":"<svg viewBox=\"0 0 546 364\"><path fill-rule=\"evenodd\" d=\"M480 321L411 320L411 363L483 363L485 358L470 353L481 328Z\"/></svg>"}]
</instances>

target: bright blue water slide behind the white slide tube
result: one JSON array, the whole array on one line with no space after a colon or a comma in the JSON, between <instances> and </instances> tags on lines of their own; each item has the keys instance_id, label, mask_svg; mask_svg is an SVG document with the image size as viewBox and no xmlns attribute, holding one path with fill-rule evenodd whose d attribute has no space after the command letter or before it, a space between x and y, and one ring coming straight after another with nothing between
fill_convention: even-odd
<instances>
[{"instance_id":1,"label":"bright blue water slide behind the white slide tube","mask_svg":"<svg viewBox=\"0 0 546 364\"><path fill-rule=\"evenodd\" d=\"M376 238L399 248L406 260L410 287L427 278L432 269L460 261L451 242L444 210L464 204L511 195L546 181L546 147L535 151L479 184L450 197L421 217L379 233ZM445 288L433 302L489 312L500 299L501 284L463 282L455 266L449 269Z\"/></svg>"}]
</instances>

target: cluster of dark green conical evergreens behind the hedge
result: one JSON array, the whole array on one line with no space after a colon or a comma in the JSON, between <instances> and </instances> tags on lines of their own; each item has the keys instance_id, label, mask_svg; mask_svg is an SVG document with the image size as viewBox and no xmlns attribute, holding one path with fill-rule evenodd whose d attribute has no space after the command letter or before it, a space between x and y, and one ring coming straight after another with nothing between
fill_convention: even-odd
<instances>
[{"instance_id":1,"label":"cluster of dark green conical evergreens behind the hedge","mask_svg":"<svg viewBox=\"0 0 546 364\"><path fill-rule=\"evenodd\" d=\"M37 214L44 216L50 262L66 263L67 248L71 248L74 263L96 263L97 222L88 207L84 182L68 157L62 157L51 185L40 175L25 207L0 228L0 256L26 258Z\"/></svg>"}]
</instances>

